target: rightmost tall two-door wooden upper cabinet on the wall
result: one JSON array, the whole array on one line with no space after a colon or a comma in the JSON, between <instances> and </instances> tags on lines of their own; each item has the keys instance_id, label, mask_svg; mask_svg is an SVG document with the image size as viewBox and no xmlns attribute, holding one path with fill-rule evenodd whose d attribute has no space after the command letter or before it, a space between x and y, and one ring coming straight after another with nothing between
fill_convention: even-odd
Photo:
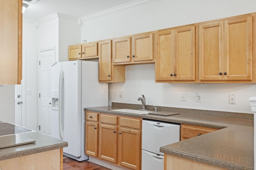
<instances>
[{"instance_id":1,"label":"rightmost tall two-door wooden upper cabinet on the wall","mask_svg":"<svg viewBox=\"0 0 256 170\"><path fill-rule=\"evenodd\" d=\"M252 16L199 25L199 81L252 82Z\"/></svg>"}]
</instances>

